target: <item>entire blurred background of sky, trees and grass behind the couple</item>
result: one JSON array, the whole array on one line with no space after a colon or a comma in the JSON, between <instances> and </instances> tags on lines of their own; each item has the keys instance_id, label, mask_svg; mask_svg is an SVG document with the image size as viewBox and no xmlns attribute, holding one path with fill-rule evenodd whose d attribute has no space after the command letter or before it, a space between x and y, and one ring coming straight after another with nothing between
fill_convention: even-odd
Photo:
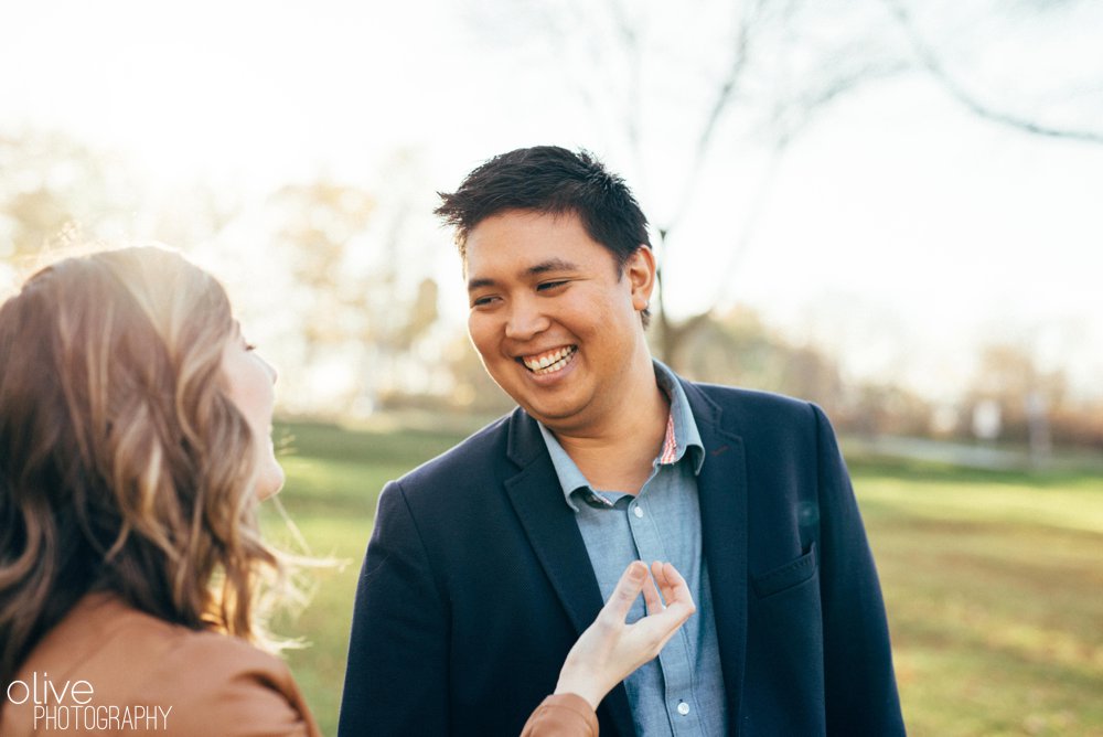
<instances>
[{"instance_id":1,"label":"entire blurred background of sky, trees and grass behind the couple","mask_svg":"<svg viewBox=\"0 0 1103 737\"><path fill-rule=\"evenodd\" d=\"M586 148L651 218L655 354L840 431L911 731L1103 734L1101 33L1090 0L7 0L0 291L89 239L224 281L283 501L352 562L283 628L330 728L379 487L511 406L436 192Z\"/></svg>"}]
</instances>

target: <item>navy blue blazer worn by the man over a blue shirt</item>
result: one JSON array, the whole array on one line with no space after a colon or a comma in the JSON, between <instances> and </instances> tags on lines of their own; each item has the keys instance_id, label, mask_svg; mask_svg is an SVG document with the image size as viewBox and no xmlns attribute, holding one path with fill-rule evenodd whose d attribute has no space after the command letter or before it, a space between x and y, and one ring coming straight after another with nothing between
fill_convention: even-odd
<instances>
[{"instance_id":1,"label":"navy blue blazer worn by the man over a blue shirt","mask_svg":"<svg viewBox=\"0 0 1103 737\"><path fill-rule=\"evenodd\" d=\"M683 382L705 446L702 538L733 735L900 735L877 573L818 407ZM522 409L386 485L339 734L517 735L602 606ZM633 735L623 686L603 737Z\"/></svg>"}]
</instances>

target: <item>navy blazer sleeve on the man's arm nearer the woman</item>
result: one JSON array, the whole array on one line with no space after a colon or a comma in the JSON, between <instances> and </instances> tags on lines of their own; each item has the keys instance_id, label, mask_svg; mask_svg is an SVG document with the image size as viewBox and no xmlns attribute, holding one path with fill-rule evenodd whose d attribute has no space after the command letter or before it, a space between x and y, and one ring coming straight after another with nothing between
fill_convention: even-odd
<instances>
[{"instance_id":1,"label":"navy blazer sleeve on the man's arm nearer the woman","mask_svg":"<svg viewBox=\"0 0 1103 737\"><path fill-rule=\"evenodd\" d=\"M406 493L379 495L356 587L338 734L448 734L448 611Z\"/></svg>"}]
</instances>

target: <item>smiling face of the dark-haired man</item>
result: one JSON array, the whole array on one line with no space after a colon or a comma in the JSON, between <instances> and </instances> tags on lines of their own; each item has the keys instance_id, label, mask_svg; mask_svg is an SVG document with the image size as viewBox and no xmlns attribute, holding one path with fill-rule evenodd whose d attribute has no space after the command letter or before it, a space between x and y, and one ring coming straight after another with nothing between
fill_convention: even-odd
<instances>
[{"instance_id":1,"label":"smiling face of the dark-haired man","mask_svg":"<svg viewBox=\"0 0 1103 737\"><path fill-rule=\"evenodd\" d=\"M531 415L585 431L623 406L625 372L649 355L639 314L654 281L647 248L622 274L574 213L511 210L470 231L467 276L471 342Z\"/></svg>"}]
</instances>

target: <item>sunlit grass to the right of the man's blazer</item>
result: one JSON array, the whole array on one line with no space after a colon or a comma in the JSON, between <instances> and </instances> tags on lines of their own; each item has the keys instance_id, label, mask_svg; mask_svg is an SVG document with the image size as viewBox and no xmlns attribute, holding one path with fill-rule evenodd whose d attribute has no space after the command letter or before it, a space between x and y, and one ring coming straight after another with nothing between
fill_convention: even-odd
<instances>
[{"instance_id":1,"label":"sunlit grass to the right of the man's blazer","mask_svg":"<svg viewBox=\"0 0 1103 737\"><path fill-rule=\"evenodd\" d=\"M912 735L1103 735L1103 477L855 468Z\"/></svg>"}]
</instances>

